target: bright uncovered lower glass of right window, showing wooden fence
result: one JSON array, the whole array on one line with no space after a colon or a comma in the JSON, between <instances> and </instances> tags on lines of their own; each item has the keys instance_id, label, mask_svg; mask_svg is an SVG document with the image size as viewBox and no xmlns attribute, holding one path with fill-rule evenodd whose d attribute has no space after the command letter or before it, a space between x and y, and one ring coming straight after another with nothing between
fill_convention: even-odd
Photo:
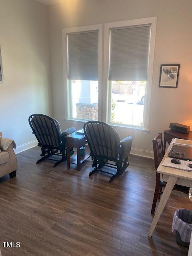
<instances>
[{"instance_id":1,"label":"bright uncovered lower glass of right window, showing wooden fence","mask_svg":"<svg viewBox=\"0 0 192 256\"><path fill-rule=\"evenodd\" d=\"M146 81L111 81L110 123L143 126Z\"/></svg>"}]
</instances>

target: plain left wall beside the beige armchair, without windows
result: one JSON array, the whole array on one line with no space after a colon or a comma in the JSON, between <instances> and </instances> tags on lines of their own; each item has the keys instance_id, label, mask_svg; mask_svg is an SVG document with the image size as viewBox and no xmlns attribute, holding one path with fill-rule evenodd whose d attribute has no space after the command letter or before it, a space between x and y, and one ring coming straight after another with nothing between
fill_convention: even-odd
<instances>
[{"instance_id":1,"label":"plain left wall beside the beige armchair, without windows","mask_svg":"<svg viewBox=\"0 0 192 256\"><path fill-rule=\"evenodd\" d=\"M52 114L48 39L47 6L34 0L0 0L0 131L17 146L35 140L30 114Z\"/></svg>"}]
</instances>

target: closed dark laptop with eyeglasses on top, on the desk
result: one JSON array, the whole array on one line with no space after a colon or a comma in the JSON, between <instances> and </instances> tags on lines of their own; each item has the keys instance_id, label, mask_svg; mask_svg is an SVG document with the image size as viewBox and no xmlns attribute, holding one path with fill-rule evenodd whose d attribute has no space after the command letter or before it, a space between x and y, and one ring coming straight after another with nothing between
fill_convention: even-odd
<instances>
[{"instance_id":1,"label":"closed dark laptop with eyeglasses on top, on the desk","mask_svg":"<svg viewBox=\"0 0 192 256\"><path fill-rule=\"evenodd\" d=\"M171 158L192 161L192 147L172 145L168 156Z\"/></svg>"}]
</instances>

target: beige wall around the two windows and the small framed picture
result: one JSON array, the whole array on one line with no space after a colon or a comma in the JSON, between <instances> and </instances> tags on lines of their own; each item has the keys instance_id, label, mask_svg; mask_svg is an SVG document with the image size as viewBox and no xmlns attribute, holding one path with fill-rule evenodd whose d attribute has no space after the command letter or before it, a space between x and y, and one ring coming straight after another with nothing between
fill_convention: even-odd
<instances>
[{"instance_id":1,"label":"beige wall around the two windows and the small framed picture","mask_svg":"<svg viewBox=\"0 0 192 256\"><path fill-rule=\"evenodd\" d=\"M192 1L191 0L65 0L50 6L50 42L53 113L64 122L62 28L157 16L150 132L140 134L117 129L121 138L134 136L139 154L152 151L152 138L170 122L192 126ZM178 89L158 88L160 64L180 64ZM75 125L76 126L76 125ZM78 126L81 127L82 125ZM77 127L77 126L76 126ZM149 152L150 153L150 152Z\"/></svg>"}]
</instances>

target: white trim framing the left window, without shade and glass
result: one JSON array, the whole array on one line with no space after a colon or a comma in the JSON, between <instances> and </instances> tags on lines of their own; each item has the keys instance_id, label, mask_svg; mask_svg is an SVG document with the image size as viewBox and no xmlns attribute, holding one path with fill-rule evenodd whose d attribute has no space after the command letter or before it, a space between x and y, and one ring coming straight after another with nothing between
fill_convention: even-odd
<instances>
[{"instance_id":1,"label":"white trim framing the left window, without shade and glass","mask_svg":"<svg viewBox=\"0 0 192 256\"><path fill-rule=\"evenodd\" d=\"M102 24L95 24L90 26L80 26L74 28L62 29L62 47L63 47L63 76L64 76L64 119L74 120L78 122L86 122L86 120L79 120L72 118L71 109L71 93L70 85L67 78L67 34L73 32L98 30L98 120L101 120L102 115Z\"/></svg>"}]
</instances>

